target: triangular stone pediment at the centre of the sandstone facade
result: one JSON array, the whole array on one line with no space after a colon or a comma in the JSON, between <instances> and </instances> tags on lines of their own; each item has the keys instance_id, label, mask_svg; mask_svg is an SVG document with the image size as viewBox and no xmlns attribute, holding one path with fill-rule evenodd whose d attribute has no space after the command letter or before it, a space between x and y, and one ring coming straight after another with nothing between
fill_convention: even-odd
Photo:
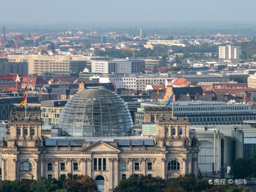
<instances>
[{"instance_id":1,"label":"triangular stone pediment at the centre of the sandstone facade","mask_svg":"<svg viewBox=\"0 0 256 192\"><path fill-rule=\"evenodd\" d=\"M120 152L119 149L111 146L110 144L105 143L104 141L97 141L84 149L80 150L81 152Z\"/></svg>"}]
</instances>

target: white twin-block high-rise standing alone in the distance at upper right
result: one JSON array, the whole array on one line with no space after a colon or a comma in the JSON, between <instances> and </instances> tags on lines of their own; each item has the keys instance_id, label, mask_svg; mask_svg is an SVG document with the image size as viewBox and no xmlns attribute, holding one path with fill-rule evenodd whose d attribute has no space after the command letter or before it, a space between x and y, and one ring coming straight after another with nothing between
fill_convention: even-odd
<instances>
[{"instance_id":1,"label":"white twin-block high-rise standing alone in the distance at upper right","mask_svg":"<svg viewBox=\"0 0 256 192\"><path fill-rule=\"evenodd\" d=\"M219 59L240 59L241 54L240 46L219 46Z\"/></svg>"}]
</instances>

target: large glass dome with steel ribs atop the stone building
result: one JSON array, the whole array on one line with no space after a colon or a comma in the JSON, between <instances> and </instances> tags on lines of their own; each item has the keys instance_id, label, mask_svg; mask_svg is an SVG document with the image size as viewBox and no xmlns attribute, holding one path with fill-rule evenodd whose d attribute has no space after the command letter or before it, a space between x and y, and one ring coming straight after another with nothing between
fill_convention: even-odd
<instances>
[{"instance_id":1,"label":"large glass dome with steel ribs atop the stone building","mask_svg":"<svg viewBox=\"0 0 256 192\"><path fill-rule=\"evenodd\" d=\"M65 105L59 135L75 137L126 136L133 120L123 99L105 87L87 87Z\"/></svg>"}]
</instances>

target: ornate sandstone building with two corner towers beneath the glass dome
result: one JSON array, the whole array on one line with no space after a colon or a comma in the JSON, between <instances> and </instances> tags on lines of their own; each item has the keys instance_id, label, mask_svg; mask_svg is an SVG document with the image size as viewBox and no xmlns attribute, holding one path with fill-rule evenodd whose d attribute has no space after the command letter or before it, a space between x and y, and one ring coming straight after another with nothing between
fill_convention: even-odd
<instances>
[{"instance_id":1,"label":"ornate sandstone building with two corner towers beneath the glass dome","mask_svg":"<svg viewBox=\"0 0 256 192\"><path fill-rule=\"evenodd\" d=\"M14 107L10 113L8 139L1 145L2 179L59 178L61 174L104 178L104 190L112 191L132 174L165 179L197 174L199 143L189 136L187 118L160 117L153 139L120 137L109 139L46 139L38 107ZM102 178L102 177L101 177ZM102 179L101 179L102 180Z\"/></svg>"}]
</instances>

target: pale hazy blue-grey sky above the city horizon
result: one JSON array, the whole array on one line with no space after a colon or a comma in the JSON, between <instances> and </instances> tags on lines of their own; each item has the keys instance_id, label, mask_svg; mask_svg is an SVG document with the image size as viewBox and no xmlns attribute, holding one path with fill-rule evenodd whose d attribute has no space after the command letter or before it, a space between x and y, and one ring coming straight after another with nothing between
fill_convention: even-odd
<instances>
[{"instance_id":1,"label":"pale hazy blue-grey sky above the city horizon","mask_svg":"<svg viewBox=\"0 0 256 192\"><path fill-rule=\"evenodd\" d=\"M255 22L256 0L3 0L0 23Z\"/></svg>"}]
</instances>

